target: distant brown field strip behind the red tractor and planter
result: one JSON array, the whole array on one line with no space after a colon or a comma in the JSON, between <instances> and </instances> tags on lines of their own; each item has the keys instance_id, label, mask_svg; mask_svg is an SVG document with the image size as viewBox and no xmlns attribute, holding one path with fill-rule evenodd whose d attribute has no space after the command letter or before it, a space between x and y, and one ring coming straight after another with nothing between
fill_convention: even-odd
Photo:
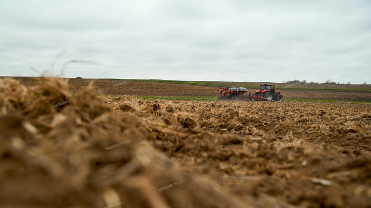
<instances>
[{"instance_id":1,"label":"distant brown field strip behind the red tractor and planter","mask_svg":"<svg viewBox=\"0 0 371 208\"><path fill-rule=\"evenodd\" d=\"M32 77L16 77L22 84L34 84ZM93 83L94 82L94 83ZM69 79L72 93L93 83L101 95L139 95L139 96L219 96L219 87L190 84L167 84L148 81L123 81L112 79ZM256 85L259 88L259 84ZM248 88L254 93L256 89ZM312 100L348 100L371 101L371 92L347 91L312 91L312 90L279 90L285 99L312 99Z\"/></svg>"}]
</instances>

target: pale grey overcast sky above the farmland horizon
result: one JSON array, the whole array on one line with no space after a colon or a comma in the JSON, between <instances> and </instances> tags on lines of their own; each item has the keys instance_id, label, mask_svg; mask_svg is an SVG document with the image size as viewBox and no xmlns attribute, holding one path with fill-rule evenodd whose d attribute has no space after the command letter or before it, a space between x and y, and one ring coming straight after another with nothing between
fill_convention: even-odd
<instances>
[{"instance_id":1,"label":"pale grey overcast sky above the farmland horizon","mask_svg":"<svg viewBox=\"0 0 371 208\"><path fill-rule=\"evenodd\" d=\"M0 24L0 76L371 83L370 0L0 0Z\"/></svg>"}]
</instances>

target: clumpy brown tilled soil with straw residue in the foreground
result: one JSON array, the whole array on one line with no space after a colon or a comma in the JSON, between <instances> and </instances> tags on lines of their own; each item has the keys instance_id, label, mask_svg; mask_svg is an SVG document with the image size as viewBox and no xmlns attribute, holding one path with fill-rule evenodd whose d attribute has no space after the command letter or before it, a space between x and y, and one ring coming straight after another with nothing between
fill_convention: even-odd
<instances>
[{"instance_id":1,"label":"clumpy brown tilled soil with straw residue in the foreground","mask_svg":"<svg viewBox=\"0 0 371 208\"><path fill-rule=\"evenodd\" d=\"M0 207L371 207L371 104L0 97Z\"/></svg>"}]
</instances>

